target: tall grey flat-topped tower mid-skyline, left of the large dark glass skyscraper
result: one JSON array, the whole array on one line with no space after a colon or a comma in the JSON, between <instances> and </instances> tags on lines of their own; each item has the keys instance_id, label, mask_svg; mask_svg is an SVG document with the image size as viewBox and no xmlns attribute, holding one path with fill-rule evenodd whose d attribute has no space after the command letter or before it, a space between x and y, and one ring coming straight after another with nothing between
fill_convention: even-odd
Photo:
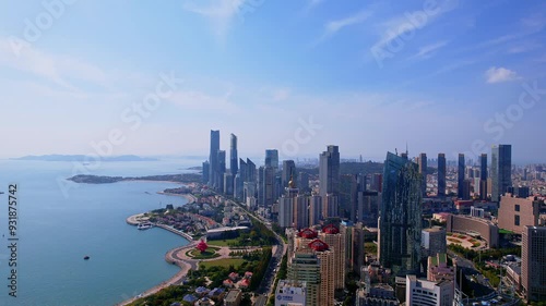
<instances>
[{"instance_id":1,"label":"tall grey flat-topped tower mid-skyline, left of the large dark glass skyscraper","mask_svg":"<svg viewBox=\"0 0 546 306\"><path fill-rule=\"evenodd\" d=\"M340 193L340 148L328 146L319 156L319 194L337 195Z\"/></svg>"}]
</instances>

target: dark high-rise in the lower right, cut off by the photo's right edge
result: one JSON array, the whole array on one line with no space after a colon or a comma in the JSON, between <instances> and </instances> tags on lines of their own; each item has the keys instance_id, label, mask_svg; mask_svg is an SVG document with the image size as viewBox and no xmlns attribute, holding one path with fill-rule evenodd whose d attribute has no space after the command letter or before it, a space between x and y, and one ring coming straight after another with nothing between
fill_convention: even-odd
<instances>
[{"instance_id":1,"label":"dark high-rise in the lower right, cut off by the photo's right edge","mask_svg":"<svg viewBox=\"0 0 546 306\"><path fill-rule=\"evenodd\" d=\"M546 228L525 227L521 242L523 295L527 302L546 301Z\"/></svg>"}]
</instances>

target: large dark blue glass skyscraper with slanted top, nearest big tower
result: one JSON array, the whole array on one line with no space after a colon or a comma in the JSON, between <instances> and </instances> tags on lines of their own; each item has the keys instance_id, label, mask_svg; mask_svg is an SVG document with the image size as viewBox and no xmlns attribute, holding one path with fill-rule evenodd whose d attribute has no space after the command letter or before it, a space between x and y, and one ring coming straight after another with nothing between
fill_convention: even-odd
<instances>
[{"instance_id":1,"label":"large dark blue glass skyscraper with slanted top, nearest big tower","mask_svg":"<svg viewBox=\"0 0 546 306\"><path fill-rule=\"evenodd\" d=\"M379 261L394 274L418 272L422 192L417 164L387 154L379 218Z\"/></svg>"}]
</instances>

